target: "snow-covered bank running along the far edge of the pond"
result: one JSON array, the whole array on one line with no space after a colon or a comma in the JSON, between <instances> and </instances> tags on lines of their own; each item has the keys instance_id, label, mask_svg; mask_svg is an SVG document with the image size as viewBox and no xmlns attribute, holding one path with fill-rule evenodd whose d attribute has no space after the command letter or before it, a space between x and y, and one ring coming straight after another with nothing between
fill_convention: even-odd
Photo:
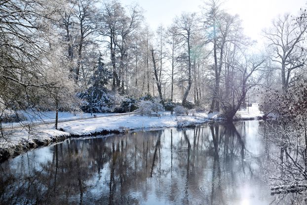
<instances>
[{"instance_id":1,"label":"snow-covered bank running along the far edge of the pond","mask_svg":"<svg viewBox=\"0 0 307 205\"><path fill-rule=\"evenodd\" d=\"M75 118L76 116L63 116L60 118L60 123L58 124L59 130L54 128L53 123L37 123L35 127L30 128L30 134L28 128L19 125L9 129L9 124L6 124L4 131L8 138L0 139L0 161L38 146L46 146L54 142L63 141L71 136L107 134L112 132L120 133L143 128L185 127L210 121L223 121L219 113L209 115L206 113L195 113L194 116L178 117L171 116L170 112L165 112L165 114L165 116L161 116L160 118L150 118L134 114L130 116L127 114L102 114L98 118L80 120L77 120ZM260 119L262 115L257 104L253 104L248 110L238 111L239 120Z\"/></svg>"}]
</instances>

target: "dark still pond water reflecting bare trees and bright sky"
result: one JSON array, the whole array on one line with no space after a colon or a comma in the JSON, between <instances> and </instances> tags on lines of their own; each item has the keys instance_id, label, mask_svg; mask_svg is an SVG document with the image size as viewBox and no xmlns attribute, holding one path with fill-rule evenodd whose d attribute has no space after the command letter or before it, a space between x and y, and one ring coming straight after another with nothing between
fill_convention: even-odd
<instances>
[{"instance_id":1,"label":"dark still pond water reflecting bare trees and bright sky","mask_svg":"<svg viewBox=\"0 0 307 205\"><path fill-rule=\"evenodd\" d=\"M0 204L267 205L263 122L70 139L0 164Z\"/></svg>"}]
</instances>

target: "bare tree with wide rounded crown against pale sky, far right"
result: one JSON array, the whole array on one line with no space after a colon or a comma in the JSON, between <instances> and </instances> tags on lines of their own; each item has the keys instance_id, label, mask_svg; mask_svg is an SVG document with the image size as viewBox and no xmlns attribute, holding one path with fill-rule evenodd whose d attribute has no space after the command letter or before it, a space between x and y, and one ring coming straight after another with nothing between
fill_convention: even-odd
<instances>
[{"instance_id":1,"label":"bare tree with wide rounded crown against pale sky, far right","mask_svg":"<svg viewBox=\"0 0 307 205\"><path fill-rule=\"evenodd\" d=\"M279 65L282 90L285 92L295 81L294 72L305 65L306 51L302 47L307 24L293 21L290 14L279 16L273 21L273 27L265 30L270 58Z\"/></svg>"}]
</instances>

